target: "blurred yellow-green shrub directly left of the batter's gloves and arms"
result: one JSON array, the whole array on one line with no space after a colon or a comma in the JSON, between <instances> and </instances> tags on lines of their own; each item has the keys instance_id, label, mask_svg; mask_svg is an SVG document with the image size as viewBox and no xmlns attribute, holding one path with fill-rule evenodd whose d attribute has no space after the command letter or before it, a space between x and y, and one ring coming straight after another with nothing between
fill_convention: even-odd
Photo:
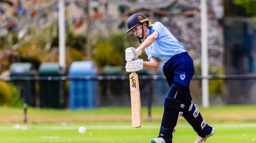
<instances>
[{"instance_id":1,"label":"blurred yellow-green shrub directly left of the batter's gloves and arms","mask_svg":"<svg viewBox=\"0 0 256 143\"><path fill-rule=\"evenodd\" d=\"M93 60L101 67L125 65L125 49L132 46L136 48L136 43L125 33L112 32L108 36L99 36L92 44ZM140 58L144 59L144 55Z\"/></svg>"}]
</instances>

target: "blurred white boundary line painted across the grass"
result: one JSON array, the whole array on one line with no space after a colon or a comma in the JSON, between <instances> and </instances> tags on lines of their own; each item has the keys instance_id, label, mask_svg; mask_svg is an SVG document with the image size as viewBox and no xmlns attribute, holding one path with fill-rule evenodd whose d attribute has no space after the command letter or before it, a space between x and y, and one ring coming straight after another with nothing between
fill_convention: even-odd
<instances>
[{"instance_id":1,"label":"blurred white boundary line painted across the grass","mask_svg":"<svg viewBox=\"0 0 256 143\"><path fill-rule=\"evenodd\" d=\"M78 130L80 126L54 126L54 127L28 127L15 125L14 127L0 127L0 130ZM86 129L135 129L131 125L111 125L111 126L84 126ZM255 128L256 124L230 124L213 125L215 128ZM142 125L140 129L159 129L160 125ZM176 129L188 129L190 125L177 125Z\"/></svg>"}]
</instances>

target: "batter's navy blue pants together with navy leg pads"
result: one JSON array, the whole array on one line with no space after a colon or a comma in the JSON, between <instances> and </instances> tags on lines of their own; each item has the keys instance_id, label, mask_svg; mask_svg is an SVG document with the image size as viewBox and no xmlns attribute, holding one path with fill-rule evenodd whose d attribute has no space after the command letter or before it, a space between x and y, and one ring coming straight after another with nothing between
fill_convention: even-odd
<instances>
[{"instance_id":1,"label":"batter's navy blue pants together with navy leg pads","mask_svg":"<svg viewBox=\"0 0 256 143\"><path fill-rule=\"evenodd\" d=\"M183 116L199 136L204 138L206 135L210 134L212 127L205 123L197 105L192 103L189 83L194 75L194 64L189 54L182 52L172 56L172 58L164 64L163 72L169 87L174 84L181 89L183 100L178 114L164 108L159 137L164 138L167 143L172 143L172 133L175 131L174 127L177 124L178 116ZM166 96L169 96L168 93Z\"/></svg>"}]
</instances>

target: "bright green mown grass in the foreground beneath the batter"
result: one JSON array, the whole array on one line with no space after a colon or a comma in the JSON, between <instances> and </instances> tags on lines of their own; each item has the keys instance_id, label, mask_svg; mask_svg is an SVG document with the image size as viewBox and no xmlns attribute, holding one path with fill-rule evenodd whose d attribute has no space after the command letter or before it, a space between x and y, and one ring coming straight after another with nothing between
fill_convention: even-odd
<instances>
[{"instance_id":1,"label":"bright green mown grass in the foreground beneath the batter","mask_svg":"<svg viewBox=\"0 0 256 143\"><path fill-rule=\"evenodd\" d=\"M215 134L207 143L255 143L256 122L211 122ZM160 122L143 122L133 129L129 122L26 124L13 129L15 124L0 125L1 143L150 143L159 133ZM80 134L78 127L86 127ZM17 127L17 125L15 126ZM22 129L23 128L23 129ZM196 133L186 122L180 122L174 133L174 143L194 143Z\"/></svg>"}]
</instances>

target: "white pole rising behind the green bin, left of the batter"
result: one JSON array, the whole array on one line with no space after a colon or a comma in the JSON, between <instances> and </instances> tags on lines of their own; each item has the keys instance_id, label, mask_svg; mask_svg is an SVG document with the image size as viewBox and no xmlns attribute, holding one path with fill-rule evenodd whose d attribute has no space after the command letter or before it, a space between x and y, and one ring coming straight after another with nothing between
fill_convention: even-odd
<instances>
[{"instance_id":1,"label":"white pole rising behind the green bin, left of the batter","mask_svg":"<svg viewBox=\"0 0 256 143\"><path fill-rule=\"evenodd\" d=\"M59 63L66 68L65 59L65 6L64 0L59 0Z\"/></svg>"}]
</instances>

